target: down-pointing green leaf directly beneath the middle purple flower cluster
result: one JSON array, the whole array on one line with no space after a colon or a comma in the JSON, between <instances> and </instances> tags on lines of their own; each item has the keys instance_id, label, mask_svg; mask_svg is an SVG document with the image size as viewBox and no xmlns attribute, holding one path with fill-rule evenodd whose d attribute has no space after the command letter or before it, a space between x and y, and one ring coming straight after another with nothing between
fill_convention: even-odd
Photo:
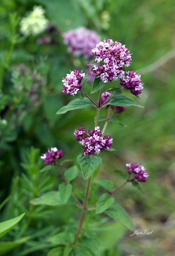
<instances>
[{"instance_id":1,"label":"down-pointing green leaf directly beneath the middle purple flower cluster","mask_svg":"<svg viewBox=\"0 0 175 256\"><path fill-rule=\"evenodd\" d=\"M95 169L102 163L102 159L99 156L85 156L81 158L82 155L79 155L77 160L80 163L83 179L87 180L91 177Z\"/></svg>"}]
</instances>

